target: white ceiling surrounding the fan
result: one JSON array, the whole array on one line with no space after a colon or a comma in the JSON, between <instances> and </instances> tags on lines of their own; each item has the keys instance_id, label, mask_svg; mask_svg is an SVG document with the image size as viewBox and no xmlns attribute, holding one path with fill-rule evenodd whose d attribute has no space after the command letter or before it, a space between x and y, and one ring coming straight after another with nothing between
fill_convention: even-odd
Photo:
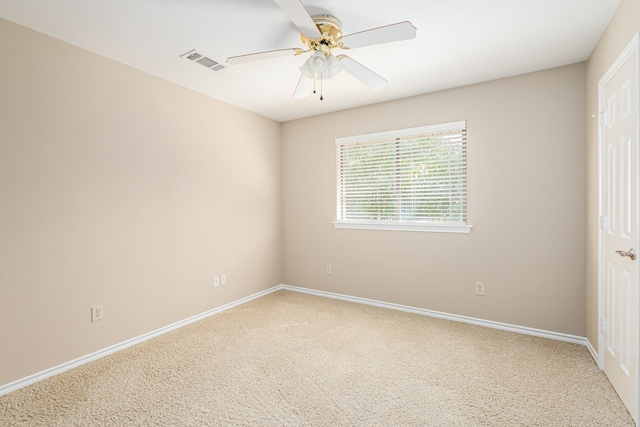
<instances>
[{"instance_id":1,"label":"white ceiling surrounding the fan","mask_svg":"<svg viewBox=\"0 0 640 427\"><path fill-rule=\"evenodd\" d=\"M247 53L303 47L272 0L0 0L0 17L249 111L287 121L586 60L620 0L302 0L343 33L409 20L413 40L350 50L389 81L374 92L347 73L324 100L292 99L307 56L214 72Z\"/></svg>"}]
</instances>

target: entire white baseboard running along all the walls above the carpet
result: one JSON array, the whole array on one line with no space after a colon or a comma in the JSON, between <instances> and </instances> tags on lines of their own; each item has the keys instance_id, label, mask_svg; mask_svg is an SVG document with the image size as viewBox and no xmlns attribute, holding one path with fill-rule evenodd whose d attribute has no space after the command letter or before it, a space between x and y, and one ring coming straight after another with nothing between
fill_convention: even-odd
<instances>
[{"instance_id":1,"label":"entire white baseboard running along all the walls above the carpet","mask_svg":"<svg viewBox=\"0 0 640 427\"><path fill-rule=\"evenodd\" d=\"M477 319L474 317L467 317L467 316L459 316L457 314L449 314L449 313L443 313L443 312L439 312L439 311L433 311L433 310L426 310L424 308L417 308L417 307L410 307L410 306L406 306L406 305L400 305L400 304L393 304L393 303L388 303L388 302L383 302L383 301L376 301L376 300L371 300L371 299L366 299L366 298L359 298L359 297L352 297L352 296L348 296L348 295L342 295L342 294L336 294L336 293L332 293L332 292L325 292L325 291L317 291L317 290L313 290L313 289L308 289L308 288L300 288L297 286L290 286L290 285L278 285L278 286L274 286L273 288L264 290L262 292L258 292L256 294L253 295L249 295L248 297L245 298L241 298L237 301L233 301L230 302L228 304L222 305L220 307L214 308L212 310L206 311L204 313L198 314L196 316L193 317L189 317L188 319L185 320L181 320L179 322L173 323L171 325L165 326L163 328L160 329L156 329L155 331L151 331L149 333L140 335L138 337L135 338L131 338L127 341L123 341L119 344L115 344L112 345L110 347L104 348L102 350L98 350L94 353L91 354L87 354L85 356L79 357L77 359L71 360L69 362L63 363L61 365L58 366L54 366L53 368L49 368L46 369L44 371L41 372L37 372L33 375L29 375L28 377L13 381L11 383L5 384L0 386L0 396L7 394L7 393L11 393L12 391L18 390L20 388L26 387L28 385L34 384L38 381L42 381L46 378L52 377L54 375L60 374L62 372L68 371L69 369L73 369L73 368L77 368L79 366L84 365L85 363L89 363L89 362L93 362L94 360L98 360L102 357L108 356L110 354L113 354L115 352L118 352L120 350L124 350L128 347L134 346L136 344L140 344L144 341L150 340L152 338L155 338L159 335L165 334L169 331L173 331L174 329L178 329L181 328L183 326L189 325L191 323L197 322L199 320L202 319L206 319L207 317L213 316L215 314L221 313L223 311L227 311L230 310L236 306L239 306L241 304L247 303L249 301L252 301L256 298L260 298L263 297L265 295L271 294L273 292L279 291L279 290L286 290L286 291L292 291L292 292L300 292L300 293L305 293L305 294L310 294L310 295L315 295L315 296L320 296L320 297L325 297L325 298L333 298L333 299L339 299L339 300L343 300L343 301L348 301L348 302L354 302L354 303L358 303L358 304L366 304L366 305L372 305L372 306L376 306L376 307L381 307L381 308L388 308L391 310L398 310L398 311L404 311L407 313L414 313L414 314L419 314L419 315L423 315L423 316L429 316L429 317L437 317L440 319L447 319L447 320L453 320L456 322L464 322L464 323L471 323L474 325L479 325L479 326L485 326L488 328L494 328L494 329L501 329L504 331L511 331L511 332L517 332L517 333L521 333L521 334L526 334L526 335L534 335L534 336L538 336L538 337L543 337L543 338L550 338L553 340L558 340L558 341L565 341L565 342L570 342L570 343L574 343L574 344L581 344L587 347L587 349L589 350L589 352L591 353L591 356L594 358L594 360L596 360L597 363L597 353L595 352L595 350L593 349L593 346L591 346L591 343L584 337L579 337L576 335L568 335L568 334L561 334L558 332L551 332L551 331L544 331L541 329L533 329L533 328L527 328L524 326L517 326L517 325L510 325L507 323L500 323L500 322L493 322L490 320L482 320L482 319Z\"/></svg>"}]
</instances>

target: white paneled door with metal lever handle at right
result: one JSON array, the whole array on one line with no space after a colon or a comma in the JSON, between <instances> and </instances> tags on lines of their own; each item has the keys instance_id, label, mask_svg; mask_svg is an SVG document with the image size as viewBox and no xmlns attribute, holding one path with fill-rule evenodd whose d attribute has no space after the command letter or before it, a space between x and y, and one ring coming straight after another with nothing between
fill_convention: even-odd
<instances>
[{"instance_id":1,"label":"white paneled door with metal lever handle at right","mask_svg":"<svg viewBox=\"0 0 640 427\"><path fill-rule=\"evenodd\" d=\"M638 421L638 44L600 81L601 362ZM602 346L604 342L604 346Z\"/></svg>"}]
</instances>

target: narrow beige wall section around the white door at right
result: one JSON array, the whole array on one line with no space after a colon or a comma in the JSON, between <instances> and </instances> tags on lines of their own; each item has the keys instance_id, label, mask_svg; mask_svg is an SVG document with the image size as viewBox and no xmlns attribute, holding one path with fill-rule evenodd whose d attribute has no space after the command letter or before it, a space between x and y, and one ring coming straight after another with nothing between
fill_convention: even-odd
<instances>
[{"instance_id":1,"label":"narrow beige wall section around the white door at right","mask_svg":"<svg viewBox=\"0 0 640 427\"><path fill-rule=\"evenodd\" d=\"M640 0L622 0L587 62L587 332L598 347L598 81L640 31Z\"/></svg>"}]
</instances>

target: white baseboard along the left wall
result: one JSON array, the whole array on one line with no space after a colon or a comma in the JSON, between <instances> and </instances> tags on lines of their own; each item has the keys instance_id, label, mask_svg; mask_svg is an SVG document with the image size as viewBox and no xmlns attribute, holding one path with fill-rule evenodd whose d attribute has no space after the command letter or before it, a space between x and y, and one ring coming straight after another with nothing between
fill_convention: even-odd
<instances>
[{"instance_id":1,"label":"white baseboard along the left wall","mask_svg":"<svg viewBox=\"0 0 640 427\"><path fill-rule=\"evenodd\" d=\"M222 305L220 307L214 308L212 310L209 311L205 311L204 313L189 317L188 319L184 319L181 320L179 322L173 323L171 325L165 326L163 328L160 329L156 329L155 331L151 331L148 332L146 334L140 335L138 337L135 338L131 338L129 340L123 341L119 344L115 344L112 345L110 347L104 348L102 350L98 350L96 352L87 354L85 356L81 356L78 357L77 359L73 359L70 360L69 362L65 362L61 365L58 366L54 366L53 368L49 368L46 369L44 371L41 372L37 372L33 375L29 375L28 377L10 382L8 384L5 384L3 386L0 386L0 396L7 394L7 393L11 393L12 391L21 389L23 387L26 387L28 385L37 383L38 381L42 381L46 378L52 377L54 375L58 375L61 374L65 371L68 371L69 369L73 369L73 368L77 368L79 366L82 366L86 363L89 362L93 362L95 360L98 360L100 358L103 358L105 356L108 356L110 354L116 353L120 350L124 350L126 348L129 348L131 346L134 346L136 344L140 344L144 341L150 340L152 338L155 338L157 336L160 336L162 334L166 334L167 332L173 331L174 329L178 329L181 328L183 326L187 326L191 323L194 322L198 322L200 320L206 319L207 317L213 316L214 314L218 314L218 313L222 313L223 311L227 311L230 310L238 305L247 303L249 301L252 301L256 298L260 298L263 297L265 295L268 295L270 293L273 293L275 291L278 291L282 288L282 285L279 286L274 286L273 288L264 290L262 292L258 292L256 294L253 295L249 295L248 297L245 298L241 298L239 300L230 302L228 304Z\"/></svg>"}]
</instances>

